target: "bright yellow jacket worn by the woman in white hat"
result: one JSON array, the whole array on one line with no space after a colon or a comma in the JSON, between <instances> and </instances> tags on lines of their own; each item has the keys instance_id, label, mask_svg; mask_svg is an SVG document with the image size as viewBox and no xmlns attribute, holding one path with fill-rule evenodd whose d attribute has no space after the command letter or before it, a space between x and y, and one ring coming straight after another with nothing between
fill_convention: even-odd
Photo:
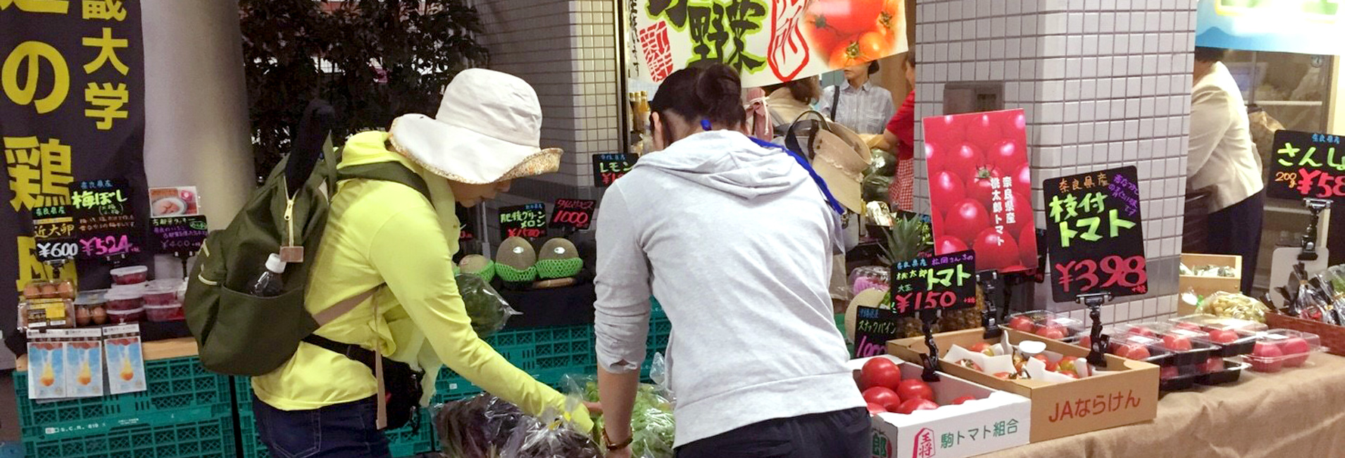
<instances>
[{"instance_id":1,"label":"bright yellow jacket worn by the woman in white hat","mask_svg":"<svg viewBox=\"0 0 1345 458\"><path fill-rule=\"evenodd\" d=\"M386 132L351 136L339 167L397 162L440 181L430 183L436 191L451 193L443 178L387 151L386 140ZM452 195L441 195L436 201L451 205ZM433 393L433 379L443 364L527 414L538 415L547 407L566 411L564 395L515 368L472 330L453 282L457 237L445 237L459 230L453 211L437 213L429 199L408 186L367 179L340 182L304 296L308 311L386 286L316 334L366 349L378 342L385 356L425 369L426 397ZM285 411L356 401L374 396L378 388L363 364L309 344L300 344L295 357L269 374L253 377L252 384L261 401ZM592 430L582 405L574 414L578 427Z\"/></svg>"}]
</instances>

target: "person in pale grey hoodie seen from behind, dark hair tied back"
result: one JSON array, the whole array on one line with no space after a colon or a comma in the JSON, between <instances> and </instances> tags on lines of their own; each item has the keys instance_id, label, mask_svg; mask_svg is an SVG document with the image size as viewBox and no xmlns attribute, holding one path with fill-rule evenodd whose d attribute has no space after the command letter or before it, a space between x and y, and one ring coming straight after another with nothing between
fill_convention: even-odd
<instances>
[{"instance_id":1,"label":"person in pale grey hoodie seen from behind, dark hair tied back","mask_svg":"<svg viewBox=\"0 0 1345 458\"><path fill-rule=\"evenodd\" d=\"M662 151L603 195L593 330L609 458L631 457L651 294L672 325L679 458L870 455L827 294L841 205L802 158L742 132L740 88L722 63L664 79L650 102Z\"/></svg>"}]
</instances>

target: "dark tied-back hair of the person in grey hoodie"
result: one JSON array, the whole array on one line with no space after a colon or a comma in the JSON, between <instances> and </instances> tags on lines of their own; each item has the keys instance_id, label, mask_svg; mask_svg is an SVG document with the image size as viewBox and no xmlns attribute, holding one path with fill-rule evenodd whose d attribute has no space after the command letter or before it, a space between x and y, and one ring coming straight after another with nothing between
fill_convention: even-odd
<instances>
[{"instance_id":1,"label":"dark tied-back hair of the person in grey hoodie","mask_svg":"<svg viewBox=\"0 0 1345 458\"><path fill-rule=\"evenodd\" d=\"M721 128L734 128L746 121L742 109L742 81L724 63L701 62L674 71L650 101L658 113L672 112L686 120L705 119Z\"/></svg>"}]
</instances>

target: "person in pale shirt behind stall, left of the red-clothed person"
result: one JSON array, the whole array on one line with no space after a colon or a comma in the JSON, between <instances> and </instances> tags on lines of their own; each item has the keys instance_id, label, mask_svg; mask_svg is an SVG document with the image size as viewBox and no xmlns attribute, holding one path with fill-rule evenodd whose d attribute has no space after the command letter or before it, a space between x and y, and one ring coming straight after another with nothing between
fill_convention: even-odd
<instances>
[{"instance_id":1,"label":"person in pale shirt behind stall, left of the red-clothed person","mask_svg":"<svg viewBox=\"0 0 1345 458\"><path fill-rule=\"evenodd\" d=\"M878 62L846 67L845 85L822 92L818 110L859 135L881 135L897 112L892 93L874 86L869 77L878 73Z\"/></svg>"}]
</instances>

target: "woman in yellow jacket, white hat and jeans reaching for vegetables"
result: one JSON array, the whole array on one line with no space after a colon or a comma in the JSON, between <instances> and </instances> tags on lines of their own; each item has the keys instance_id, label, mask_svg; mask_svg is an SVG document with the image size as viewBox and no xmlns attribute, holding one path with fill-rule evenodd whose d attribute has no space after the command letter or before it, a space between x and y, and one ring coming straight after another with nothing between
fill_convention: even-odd
<instances>
[{"instance_id":1,"label":"woman in yellow jacket, white hat and jeans reaching for vegetables","mask_svg":"<svg viewBox=\"0 0 1345 458\"><path fill-rule=\"evenodd\" d=\"M538 147L541 124L531 86L472 69L448 85L436 117L406 115L389 132L351 136L338 167L395 162L425 179L429 198L393 182L340 182L305 303L316 314L375 292L315 334L424 369L426 396L443 362L525 412L565 411L565 396L476 335L453 282L453 203L473 206L515 178L555 171L561 151ZM276 457L390 457L375 424L377 380L355 360L305 342L280 369L254 377L253 391L257 430ZM572 418L592 430L582 405Z\"/></svg>"}]
</instances>

